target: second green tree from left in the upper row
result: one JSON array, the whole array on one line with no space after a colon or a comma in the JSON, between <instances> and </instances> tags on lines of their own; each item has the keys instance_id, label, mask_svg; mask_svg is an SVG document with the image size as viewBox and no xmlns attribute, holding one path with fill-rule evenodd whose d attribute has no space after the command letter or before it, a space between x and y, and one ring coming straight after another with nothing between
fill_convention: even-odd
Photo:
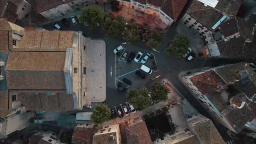
<instances>
[{"instance_id":1,"label":"second green tree from left in the upper row","mask_svg":"<svg viewBox=\"0 0 256 144\"><path fill-rule=\"evenodd\" d=\"M107 32L108 37L117 38L124 32L124 17L118 15L115 18L113 15L107 15L102 28Z\"/></svg>"}]
</instances>

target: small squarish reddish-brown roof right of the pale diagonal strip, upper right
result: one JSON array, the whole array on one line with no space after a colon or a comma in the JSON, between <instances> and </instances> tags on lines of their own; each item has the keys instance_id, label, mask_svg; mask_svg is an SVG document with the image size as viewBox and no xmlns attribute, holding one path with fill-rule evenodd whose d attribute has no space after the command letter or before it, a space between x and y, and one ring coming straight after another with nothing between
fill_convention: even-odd
<instances>
[{"instance_id":1,"label":"small squarish reddish-brown roof right of the pale diagonal strip, upper right","mask_svg":"<svg viewBox=\"0 0 256 144\"><path fill-rule=\"evenodd\" d=\"M222 30L225 38L238 33L238 27L235 18L224 21L219 25L219 28Z\"/></svg>"}]
</instances>

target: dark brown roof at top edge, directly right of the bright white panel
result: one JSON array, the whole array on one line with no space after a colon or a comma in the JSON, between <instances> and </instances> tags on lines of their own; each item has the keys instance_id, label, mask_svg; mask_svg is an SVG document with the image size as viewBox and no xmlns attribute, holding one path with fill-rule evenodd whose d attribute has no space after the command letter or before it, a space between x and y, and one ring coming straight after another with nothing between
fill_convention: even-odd
<instances>
[{"instance_id":1,"label":"dark brown roof at top edge, directly right of the bright white panel","mask_svg":"<svg viewBox=\"0 0 256 144\"><path fill-rule=\"evenodd\" d=\"M230 0L221 0L216 5L216 9L223 11L229 17L235 17L238 9L240 8L241 3Z\"/></svg>"}]
</instances>

